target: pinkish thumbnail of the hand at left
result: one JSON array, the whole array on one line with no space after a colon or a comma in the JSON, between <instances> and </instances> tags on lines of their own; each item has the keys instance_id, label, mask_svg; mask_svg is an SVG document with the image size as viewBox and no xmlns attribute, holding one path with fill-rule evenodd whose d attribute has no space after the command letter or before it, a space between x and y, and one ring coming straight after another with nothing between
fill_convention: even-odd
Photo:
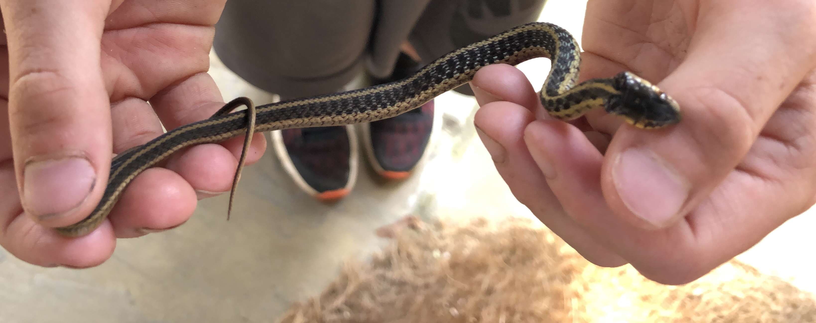
<instances>
[{"instance_id":1,"label":"pinkish thumbnail of the hand at left","mask_svg":"<svg viewBox=\"0 0 816 323\"><path fill-rule=\"evenodd\" d=\"M33 157L23 171L24 207L40 219L64 215L85 201L96 173L85 157Z\"/></svg>"}]
</instances>

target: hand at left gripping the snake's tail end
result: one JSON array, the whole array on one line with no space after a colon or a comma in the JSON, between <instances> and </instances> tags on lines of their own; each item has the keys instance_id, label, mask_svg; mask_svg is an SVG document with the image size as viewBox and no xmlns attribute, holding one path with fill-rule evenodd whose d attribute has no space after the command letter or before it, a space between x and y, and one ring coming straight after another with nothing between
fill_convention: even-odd
<instances>
[{"instance_id":1,"label":"hand at left gripping the snake's tail end","mask_svg":"<svg viewBox=\"0 0 816 323\"><path fill-rule=\"evenodd\" d=\"M118 237L174 228L228 191L243 137L176 153L134 179L91 234L61 237L100 201L111 158L224 105L207 74L225 0L0 0L0 245L28 263L86 268ZM252 139L247 165L265 149Z\"/></svg>"}]
</instances>

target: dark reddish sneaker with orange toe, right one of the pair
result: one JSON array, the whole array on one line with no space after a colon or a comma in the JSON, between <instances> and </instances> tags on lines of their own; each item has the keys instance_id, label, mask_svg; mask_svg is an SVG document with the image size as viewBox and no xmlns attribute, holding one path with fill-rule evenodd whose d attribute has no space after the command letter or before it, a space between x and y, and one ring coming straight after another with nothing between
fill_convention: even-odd
<instances>
[{"instance_id":1,"label":"dark reddish sneaker with orange toe, right one of the pair","mask_svg":"<svg viewBox=\"0 0 816 323\"><path fill-rule=\"evenodd\" d=\"M401 53L391 77L375 84L393 82L422 68ZM397 117L361 125L366 155L371 166L385 179L405 179L419 164L428 148L433 128L433 100Z\"/></svg>"}]
</instances>

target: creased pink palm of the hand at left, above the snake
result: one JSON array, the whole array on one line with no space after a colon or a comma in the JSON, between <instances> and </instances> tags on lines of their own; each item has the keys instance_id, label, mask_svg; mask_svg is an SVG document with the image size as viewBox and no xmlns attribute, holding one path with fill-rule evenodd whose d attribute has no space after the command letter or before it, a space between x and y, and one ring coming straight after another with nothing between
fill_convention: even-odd
<instances>
[{"instance_id":1,"label":"creased pink palm of the hand at left, above the snake","mask_svg":"<svg viewBox=\"0 0 816 323\"><path fill-rule=\"evenodd\" d=\"M214 25L224 2L125 0L119 4L106 20L101 39L100 64L111 102L129 97L149 101L168 86L206 73ZM171 115L157 113L162 119ZM162 122L178 126L173 125L177 120Z\"/></svg>"}]
</instances>

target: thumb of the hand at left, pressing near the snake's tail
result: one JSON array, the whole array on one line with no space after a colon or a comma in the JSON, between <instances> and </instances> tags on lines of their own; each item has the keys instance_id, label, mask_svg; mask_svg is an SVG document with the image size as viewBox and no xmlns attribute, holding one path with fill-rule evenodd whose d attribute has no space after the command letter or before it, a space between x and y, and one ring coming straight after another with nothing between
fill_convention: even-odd
<instances>
[{"instance_id":1,"label":"thumb of the hand at left, pressing near the snake's tail","mask_svg":"<svg viewBox=\"0 0 816 323\"><path fill-rule=\"evenodd\" d=\"M26 213L48 226L82 219L107 180L111 126L100 35L108 5L0 2L17 185Z\"/></svg>"}]
</instances>

